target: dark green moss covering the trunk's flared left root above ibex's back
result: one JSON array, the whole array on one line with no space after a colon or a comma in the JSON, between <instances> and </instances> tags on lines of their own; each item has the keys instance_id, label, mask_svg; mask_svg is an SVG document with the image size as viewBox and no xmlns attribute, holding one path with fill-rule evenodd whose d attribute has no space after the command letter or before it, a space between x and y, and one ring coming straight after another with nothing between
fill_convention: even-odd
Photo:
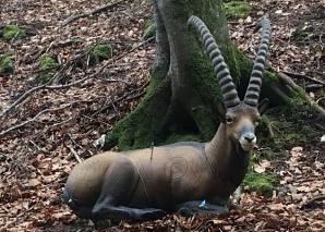
<instances>
[{"instance_id":1,"label":"dark green moss covering the trunk's flared left root above ibex's back","mask_svg":"<svg viewBox=\"0 0 325 232\"><path fill-rule=\"evenodd\" d=\"M120 120L106 136L105 148L120 150L149 147L159 144L165 134L161 123L170 98L170 83L152 77L146 96L134 111ZM159 106L159 107L157 107Z\"/></svg>"}]
</instances>

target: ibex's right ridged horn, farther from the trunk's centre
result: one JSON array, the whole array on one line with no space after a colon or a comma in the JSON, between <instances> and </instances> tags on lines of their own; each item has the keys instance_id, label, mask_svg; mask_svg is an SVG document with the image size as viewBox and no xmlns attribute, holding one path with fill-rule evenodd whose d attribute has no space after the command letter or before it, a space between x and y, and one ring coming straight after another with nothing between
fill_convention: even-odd
<instances>
[{"instance_id":1,"label":"ibex's right ridged horn, farther from the trunk's centre","mask_svg":"<svg viewBox=\"0 0 325 232\"><path fill-rule=\"evenodd\" d=\"M261 42L252 70L250 83L243 101L252 107L257 107L262 86L262 77L267 53L267 47L270 35L270 23L268 17L264 16L257 24L257 29L262 27Z\"/></svg>"}]
</instances>

